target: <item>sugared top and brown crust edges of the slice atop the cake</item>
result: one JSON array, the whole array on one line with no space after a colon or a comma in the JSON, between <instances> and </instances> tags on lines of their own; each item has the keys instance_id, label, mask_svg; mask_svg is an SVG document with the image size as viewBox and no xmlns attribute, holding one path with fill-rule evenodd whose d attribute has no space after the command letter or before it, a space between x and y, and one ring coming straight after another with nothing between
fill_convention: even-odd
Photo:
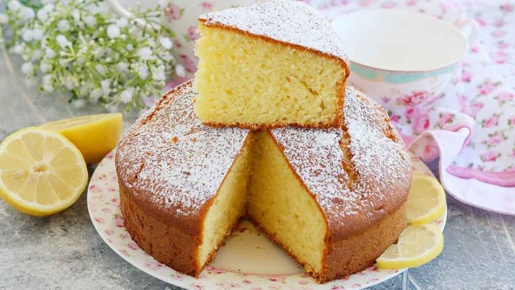
<instances>
[{"instance_id":1,"label":"sugared top and brown crust edges of the slice atop the cake","mask_svg":"<svg viewBox=\"0 0 515 290\"><path fill-rule=\"evenodd\" d=\"M295 14L295 15L292 15ZM288 22L284 21L288 15ZM261 130L296 126L303 128L328 129L339 128L341 111L345 96L345 85L350 75L350 68L345 54L345 48L339 36L334 32L328 21L316 10L300 1L271 1L259 5L231 8L219 12L211 12L198 17L201 25L219 27L245 36L258 38L269 43L284 45L311 52L324 58L330 58L339 63L345 71L345 76L339 80L337 112L334 120L319 124L225 124L206 122L207 126L222 128L236 126L243 129ZM266 25L263 25L266 23ZM297 38L304 36L304 38Z\"/></svg>"}]
</instances>

